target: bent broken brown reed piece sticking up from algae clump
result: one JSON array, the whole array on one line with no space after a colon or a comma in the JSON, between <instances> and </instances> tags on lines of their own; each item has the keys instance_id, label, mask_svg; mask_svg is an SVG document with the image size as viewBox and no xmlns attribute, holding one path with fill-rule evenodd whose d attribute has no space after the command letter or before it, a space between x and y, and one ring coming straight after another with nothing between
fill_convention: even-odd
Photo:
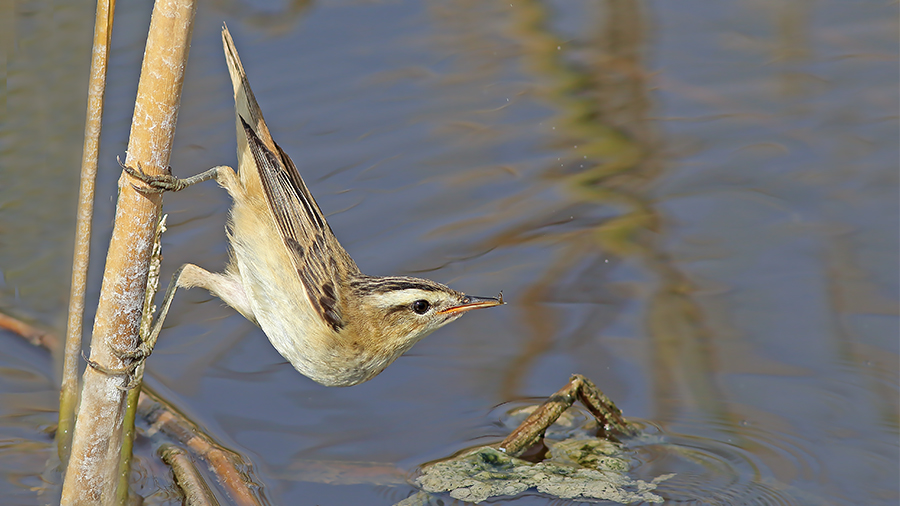
<instances>
[{"instance_id":1,"label":"bent broken brown reed piece sticking up from algae clump","mask_svg":"<svg viewBox=\"0 0 900 506\"><path fill-rule=\"evenodd\" d=\"M518 457L544 436L547 427L569 407L580 400L599 424L599 437L617 440L637 434L637 428L622 416L622 410L591 380L580 374L572 375L566 386L551 395L524 422L504 439L498 448Z\"/></svg>"}]
</instances>

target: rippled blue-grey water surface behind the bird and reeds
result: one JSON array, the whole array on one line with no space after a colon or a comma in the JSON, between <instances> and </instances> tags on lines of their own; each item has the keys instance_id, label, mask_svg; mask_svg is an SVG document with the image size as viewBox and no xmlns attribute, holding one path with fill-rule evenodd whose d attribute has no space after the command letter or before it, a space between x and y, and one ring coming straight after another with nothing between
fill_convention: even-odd
<instances>
[{"instance_id":1,"label":"rippled blue-grey water surface behind the bird and reeds","mask_svg":"<svg viewBox=\"0 0 900 506\"><path fill-rule=\"evenodd\" d=\"M116 13L88 329L150 8ZM223 21L363 271L508 301L329 389L180 292L147 382L272 504L394 504L576 372L668 438L635 474L677 473L669 503L897 504L896 3L201 2L180 176L235 160ZM0 305L61 335L93 4L16 3L4 26ZM166 195L164 279L223 268L229 205ZM52 502L59 357L0 349L0 496ZM148 441L138 490L175 504Z\"/></svg>"}]
</instances>

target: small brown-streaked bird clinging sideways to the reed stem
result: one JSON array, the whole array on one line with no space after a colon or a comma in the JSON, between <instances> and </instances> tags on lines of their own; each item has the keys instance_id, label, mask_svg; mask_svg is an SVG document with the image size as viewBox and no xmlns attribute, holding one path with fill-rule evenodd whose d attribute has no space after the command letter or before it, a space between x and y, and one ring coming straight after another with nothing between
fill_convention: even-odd
<instances>
[{"instance_id":1,"label":"small brown-streaked bird clinging sideways to the reed stem","mask_svg":"<svg viewBox=\"0 0 900 506\"><path fill-rule=\"evenodd\" d=\"M178 191L215 179L234 200L225 272L181 266L150 332L150 347L176 288L201 287L259 325L305 376L326 386L351 386L375 377L467 311L504 303L502 293L472 297L427 279L360 272L296 166L272 139L227 26L222 43L234 86L238 173L219 166L177 179L124 167L149 185L141 191Z\"/></svg>"}]
</instances>

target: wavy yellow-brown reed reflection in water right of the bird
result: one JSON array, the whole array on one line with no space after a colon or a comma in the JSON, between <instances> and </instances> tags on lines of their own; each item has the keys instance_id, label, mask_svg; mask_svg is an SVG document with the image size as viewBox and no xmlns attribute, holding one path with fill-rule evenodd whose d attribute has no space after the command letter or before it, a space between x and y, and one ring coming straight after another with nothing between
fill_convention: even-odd
<instances>
[{"instance_id":1,"label":"wavy yellow-brown reed reflection in water right of the bird","mask_svg":"<svg viewBox=\"0 0 900 506\"><path fill-rule=\"evenodd\" d=\"M564 154L542 172L565 190L567 202L549 211L520 202L519 209L527 211L498 217L506 224L478 247L552 243L556 249L539 278L516 296L529 338L503 374L500 395L515 397L534 363L558 346L553 336L561 322L545 303L572 297L585 302L587 294L588 302L620 305L602 282L610 261L630 258L646 269L654 287L644 307L658 416L665 418L675 407L666 400L692 399L718 411L710 404L719 396L702 312L691 299L691 283L660 245L661 219L648 191L662 170L644 68L648 13L640 3L624 0L585 8L581 18L597 22L582 23L587 35L571 40L553 32L553 13L543 2L516 2L504 11L511 19L506 34L517 44L523 66L547 83L536 94L557 111L552 143ZM590 321L579 323L578 333L598 335L615 312L592 311L602 313L602 320L587 316ZM566 326L572 328L572 322Z\"/></svg>"}]
</instances>

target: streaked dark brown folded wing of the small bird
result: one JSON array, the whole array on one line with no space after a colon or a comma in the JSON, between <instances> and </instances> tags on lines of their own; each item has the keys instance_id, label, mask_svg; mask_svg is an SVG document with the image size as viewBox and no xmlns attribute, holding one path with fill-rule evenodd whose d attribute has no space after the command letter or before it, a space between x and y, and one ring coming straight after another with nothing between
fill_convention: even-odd
<instances>
[{"instance_id":1,"label":"streaked dark brown folded wing of the small bird","mask_svg":"<svg viewBox=\"0 0 900 506\"><path fill-rule=\"evenodd\" d=\"M359 273L359 268L334 236L291 158L277 143L278 153L273 153L244 118L240 119L269 208L291 252L297 275L313 307L337 331L345 324L337 287L345 276Z\"/></svg>"}]
</instances>

